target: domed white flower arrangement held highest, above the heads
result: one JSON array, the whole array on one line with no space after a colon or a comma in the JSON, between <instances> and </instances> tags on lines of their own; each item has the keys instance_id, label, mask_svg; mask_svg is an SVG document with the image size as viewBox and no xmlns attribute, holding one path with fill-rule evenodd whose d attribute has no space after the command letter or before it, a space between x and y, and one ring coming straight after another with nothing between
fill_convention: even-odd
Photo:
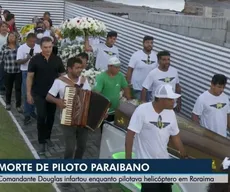
<instances>
[{"instance_id":1,"label":"domed white flower arrangement held highest, above the heads","mask_svg":"<svg viewBox=\"0 0 230 192\"><path fill-rule=\"evenodd\" d=\"M75 40L77 36L105 36L106 26L103 22L91 17L75 17L64 21L60 30L64 38Z\"/></svg>"}]
</instances>

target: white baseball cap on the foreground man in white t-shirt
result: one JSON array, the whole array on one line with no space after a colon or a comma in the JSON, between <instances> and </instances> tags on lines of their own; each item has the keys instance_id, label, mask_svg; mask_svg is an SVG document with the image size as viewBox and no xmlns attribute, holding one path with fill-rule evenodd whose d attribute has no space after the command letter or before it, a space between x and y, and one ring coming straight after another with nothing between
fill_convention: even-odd
<instances>
[{"instance_id":1,"label":"white baseball cap on the foreground man in white t-shirt","mask_svg":"<svg viewBox=\"0 0 230 192\"><path fill-rule=\"evenodd\" d=\"M173 88L169 84L159 85L155 91L155 97L164 99L177 99L181 95L173 91Z\"/></svg>"}]
</instances>

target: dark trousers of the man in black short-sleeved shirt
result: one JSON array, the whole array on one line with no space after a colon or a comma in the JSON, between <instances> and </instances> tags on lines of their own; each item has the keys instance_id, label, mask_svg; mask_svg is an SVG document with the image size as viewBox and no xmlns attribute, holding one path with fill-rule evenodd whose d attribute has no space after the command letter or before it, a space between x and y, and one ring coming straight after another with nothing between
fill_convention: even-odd
<instances>
[{"instance_id":1,"label":"dark trousers of the man in black short-sleeved shirt","mask_svg":"<svg viewBox=\"0 0 230 192\"><path fill-rule=\"evenodd\" d=\"M45 97L39 95L34 95L33 98L37 109L38 142L44 144L52 133L56 105L47 102Z\"/></svg>"}]
</instances>

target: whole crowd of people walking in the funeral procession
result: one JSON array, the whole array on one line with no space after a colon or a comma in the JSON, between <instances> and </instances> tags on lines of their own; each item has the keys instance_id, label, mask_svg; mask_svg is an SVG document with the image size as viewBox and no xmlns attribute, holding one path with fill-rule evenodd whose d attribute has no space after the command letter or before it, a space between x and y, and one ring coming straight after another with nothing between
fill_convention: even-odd
<instances>
[{"instance_id":1,"label":"whole crowd of people walking in the funeral procession","mask_svg":"<svg viewBox=\"0 0 230 192\"><path fill-rule=\"evenodd\" d=\"M175 115L183 107L178 71L170 65L170 52L153 51L152 36L145 36L143 48L132 54L126 75L120 72L120 54L115 46L119 34L115 31L108 32L105 43L92 44L89 37L84 37L85 52L70 58L65 68L57 54L57 40L49 12L45 12L42 18L33 19L35 32L29 33L26 42L22 43L14 14L8 10L0 11L1 94L5 96L6 110L11 110L14 86L16 109L24 113L24 124L29 125L31 118L36 119L39 154L44 154L47 146L53 146L51 134L56 106L60 110L66 107L63 100L65 87L74 83L82 89L99 92L110 100L111 107L105 117L110 122L114 121L114 111L119 107L121 90L128 100L135 98L142 102L128 127L126 158L132 158L133 144L137 158L169 158L169 137L181 156L187 157ZM87 69L87 52L94 53L95 68L104 70L96 77L94 87L90 87L87 78L81 75L82 70ZM195 122L224 137L230 128L229 99L224 93L226 84L225 75L214 74L210 88L197 98L192 112ZM88 129L62 126L62 130L64 158L81 159L86 149ZM153 190L168 192L171 184L142 185L143 192Z\"/></svg>"}]
</instances>

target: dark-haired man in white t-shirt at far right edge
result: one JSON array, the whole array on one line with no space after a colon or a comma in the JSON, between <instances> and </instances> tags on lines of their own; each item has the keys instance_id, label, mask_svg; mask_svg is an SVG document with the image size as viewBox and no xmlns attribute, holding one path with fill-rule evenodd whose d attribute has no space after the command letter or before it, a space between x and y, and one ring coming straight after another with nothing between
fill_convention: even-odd
<instances>
[{"instance_id":1,"label":"dark-haired man in white t-shirt at far right edge","mask_svg":"<svg viewBox=\"0 0 230 192\"><path fill-rule=\"evenodd\" d=\"M192 112L193 121L223 137L230 128L229 98L224 93L226 84L224 75L214 75L210 89L198 97Z\"/></svg>"}]
</instances>

